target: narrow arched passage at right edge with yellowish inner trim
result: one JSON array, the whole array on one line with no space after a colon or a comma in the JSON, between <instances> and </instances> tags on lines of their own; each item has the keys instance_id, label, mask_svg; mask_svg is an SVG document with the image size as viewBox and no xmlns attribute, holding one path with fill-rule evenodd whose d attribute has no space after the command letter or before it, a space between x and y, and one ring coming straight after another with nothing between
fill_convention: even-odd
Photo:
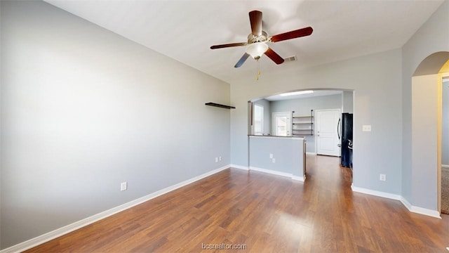
<instances>
[{"instance_id":1,"label":"narrow arched passage at right edge with yellowish inner trim","mask_svg":"<svg viewBox=\"0 0 449 253\"><path fill-rule=\"evenodd\" d=\"M442 78L449 72L449 52L424 58L412 77L412 174L413 196L441 210ZM427 179L427 180L422 180ZM436 182L431 195L422 196L424 182ZM437 215L436 215L437 216Z\"/></svg>"}]
</instances>

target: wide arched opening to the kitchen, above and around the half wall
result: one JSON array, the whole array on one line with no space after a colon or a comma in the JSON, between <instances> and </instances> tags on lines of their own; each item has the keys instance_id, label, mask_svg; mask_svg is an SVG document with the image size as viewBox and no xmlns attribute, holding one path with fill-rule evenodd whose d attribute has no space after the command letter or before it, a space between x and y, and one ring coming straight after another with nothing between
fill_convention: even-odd
<instances>
[{"instance_id":1,"label":"wide arched opening to the kitchen, above and around the half wall","mask_svg":"<svg viewBox=\"0 0 449 253\"><path fill-rule=\"evenodd\" d=\"M352 179L352 150L349 150L349 145L352 146L353 141L354 91L293 91L282 95L258 98L248 102L248 123L250 123L248 136L304 139L305 145L302 149L305 150L304 167L309 167L307 160L316 160L317 155L335 157L329 161L335 162L335 165L341 169L349 169ZM264 108L263 122L255 119L256 106ZM347 115L350 116L351 127L345 129L343 120L347 119L345 118ZM347 122L349 122L348 119ZM255 133L254 129L260 129L260 127L255 127L253 124L264 126L262 133ZM351 134L342 136L344 131L350 131ZM260 171L279 169L281 173L289 174L290 170L281 168L281 157L276 155L279 147L275 148L274 144L269 153L255 155L255 150L260 149L251 142L255 138L248 138L248 157L250 157L248 167ZM293 155L303 154L293 153ZM313 164L312 161L311 164ZM261 167L262 165L267 168ZM320 174L311 174L311 176L318 175Z\"/></svg>"}]
</instances>

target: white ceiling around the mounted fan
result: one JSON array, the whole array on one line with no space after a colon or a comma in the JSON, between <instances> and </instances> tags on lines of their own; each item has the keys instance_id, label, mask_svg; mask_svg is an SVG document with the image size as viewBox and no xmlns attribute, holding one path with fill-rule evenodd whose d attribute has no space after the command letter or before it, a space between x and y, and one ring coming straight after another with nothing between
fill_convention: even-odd
<instances>
[{"instance_id":1,"label":"white ceiling around the mounted fan","mask_svg":"<svg viewBox=\"0 0 449 253\"><path fill-rule=\"evenodd\" d=\"M311 26L309 37L269 44L283 58L260 60L262 76L286 67L306 67L400 48L443 0L370 1L62 1L48 3L152 48L225 82L255 76L251 58L234 68L244 47L211 50L215 44L245 42L248 12L262 11L269 35ZM262 77L261 76L261 77Z\"/></svg>"}]
</instances>

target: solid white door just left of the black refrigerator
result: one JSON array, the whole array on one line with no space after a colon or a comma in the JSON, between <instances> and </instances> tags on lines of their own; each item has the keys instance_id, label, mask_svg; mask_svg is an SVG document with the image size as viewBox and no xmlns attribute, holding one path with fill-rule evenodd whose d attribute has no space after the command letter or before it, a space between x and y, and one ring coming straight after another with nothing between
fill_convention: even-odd
<instances>
[{"instance_id":1,"label":"solid white door just left of the black refrigerator","mask_svg":"<svg viewBox=\"0 0 449 253\"><path fill-rule=\"evenodd\" d=\"M340 156L338 122L340 109L316 110L316 154Z\"/></svg>"}]
</instances>

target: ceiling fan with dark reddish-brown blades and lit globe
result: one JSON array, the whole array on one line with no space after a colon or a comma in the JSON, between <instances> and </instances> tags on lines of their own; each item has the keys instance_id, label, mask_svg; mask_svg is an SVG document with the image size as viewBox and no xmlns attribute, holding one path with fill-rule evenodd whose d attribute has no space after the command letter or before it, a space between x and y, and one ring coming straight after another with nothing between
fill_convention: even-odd
<instances>
[{"instance_id":1,"label":"ceiling fan with dark reddish-brown blades and lit globe","mask_svg":"<svg viewBox=\"0 0 449 253\"><path fill-rule=\"evenodd\" d=\"M250 11L249 15L251 33L248 35L248 42L210 46L210 49L227 48L232 46L246 46L246 53L243 54L243 56L234 67L240 67L241 65L243 65L243 63L249 56L253 57L255 60L259 60L262 54L268 56L268 58L272 59L274 63L281 64L284 61L283 58L279 56L279 54L274 52L272 48L269 48L267 42L278 42L287 39L305 37L309 36L314 31L311 27L304 27L298 30L284 32L282 34L276 34L269 37L267 32L262 31L262 12Z\"/></svg>"}]
</instances>

